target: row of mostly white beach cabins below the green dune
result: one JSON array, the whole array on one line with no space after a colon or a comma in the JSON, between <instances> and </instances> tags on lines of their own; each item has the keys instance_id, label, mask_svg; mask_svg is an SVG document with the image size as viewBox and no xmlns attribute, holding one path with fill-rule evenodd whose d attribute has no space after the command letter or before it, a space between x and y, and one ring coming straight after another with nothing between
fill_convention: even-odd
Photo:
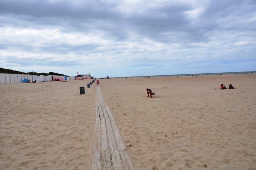
<instances>
[{"instance_id":1,"label":"row of mostly white beach cabins below the green dune","mask_svg":"<svg viewBox=\"0 0 256 170\"><path fill-rule=\"evenodd\" d=\"M22 83L24 79L30 80L30 82L45 82L45 81L52 81L58 79L59 81L62 80L75 80L76 77L68 77L68 76L55 76L55 75L23 75L23 74L8 74L8 73L0 73L0 83Z\"/></svg>"}]
</instances>

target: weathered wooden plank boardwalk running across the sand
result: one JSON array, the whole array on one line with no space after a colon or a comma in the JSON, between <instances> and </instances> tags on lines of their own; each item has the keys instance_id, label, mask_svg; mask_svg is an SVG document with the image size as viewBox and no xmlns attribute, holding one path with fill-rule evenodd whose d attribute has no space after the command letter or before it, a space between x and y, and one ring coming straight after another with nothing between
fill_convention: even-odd
<instances>
[{"instance_id":1,"label":"weathered wooden plank boardwalk running across the sand","mask_svg":"<svg viewBox=\"0 0 256 170\"><path fill-rule=\"evenodd\" d=\"M134 170L115 119L104 102L100 86L97 86L97 97L91 169Z\"/></svg>"}]
</instances>

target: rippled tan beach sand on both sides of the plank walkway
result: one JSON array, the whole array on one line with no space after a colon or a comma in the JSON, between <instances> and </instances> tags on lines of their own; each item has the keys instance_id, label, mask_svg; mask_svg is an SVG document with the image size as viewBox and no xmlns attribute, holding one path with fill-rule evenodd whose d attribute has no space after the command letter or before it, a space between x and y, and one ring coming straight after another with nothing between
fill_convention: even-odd
<instances>
[{"instance_id":1,"label":"rippled tan beach sand on both sides of the plank walkway","mask_svg":"<svg viewBox=\"0 0 256 170\"><path fill-rule=\"evenodd\" d=\"M0 84L0 169L91 169L97 85L79 94L89 81ZM100 79L137 170L255 169L255 84L255 74Z\"/></svg>"}]
</instances>

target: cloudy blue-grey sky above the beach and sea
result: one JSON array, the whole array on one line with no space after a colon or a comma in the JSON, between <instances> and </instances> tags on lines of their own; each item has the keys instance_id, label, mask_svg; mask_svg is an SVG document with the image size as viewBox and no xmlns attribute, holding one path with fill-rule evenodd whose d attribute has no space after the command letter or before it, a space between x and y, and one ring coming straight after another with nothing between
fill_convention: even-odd
<instances>
[{"instance_id":1,"label":"cloudy blue-grey sky above the beach and sea","mask_svg":"<svg viewBox=\"0 0 256 170\"><path fill-rule=\"evenodd\" d=\"M6 69L98 78L255 71L255 54L255 0L0 0Z\"/></svg>"}]
</instances>

